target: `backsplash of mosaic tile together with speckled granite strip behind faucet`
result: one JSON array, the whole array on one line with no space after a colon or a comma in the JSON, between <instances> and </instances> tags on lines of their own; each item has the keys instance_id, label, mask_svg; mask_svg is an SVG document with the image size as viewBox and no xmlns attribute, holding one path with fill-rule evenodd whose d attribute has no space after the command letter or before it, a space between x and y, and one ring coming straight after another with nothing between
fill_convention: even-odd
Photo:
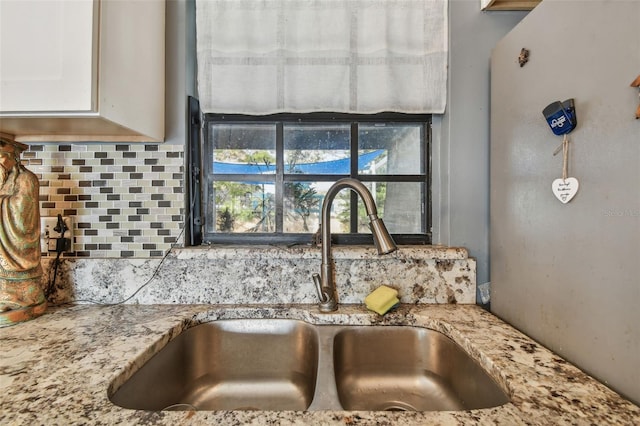
<instances>
[{"instance_id":1,"label":"backsplash of mosaic tile together with speckled granite strip behind faucet","mask_svg":"<svg viewBox=\"0 0 640 426\"><path fill-rule=\"evenodd\" d=\"M74 218L75 252L56 268L57 281L53 253L43 258L52 303L317 302L318 248L216 246L163 257L183 241L182 145L34 144L22 160L40 179L40 214ZM462 248L374 252L334 248L342 303L361 303L381 284L403 303L475 301L475 261Z\"/></svg>"}]
</instances>

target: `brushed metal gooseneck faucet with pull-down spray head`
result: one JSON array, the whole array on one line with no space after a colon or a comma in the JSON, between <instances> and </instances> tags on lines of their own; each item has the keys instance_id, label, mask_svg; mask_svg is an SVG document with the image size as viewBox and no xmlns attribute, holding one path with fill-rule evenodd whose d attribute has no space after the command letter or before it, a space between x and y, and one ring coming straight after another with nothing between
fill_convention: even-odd
<instances>
[{"instance_id":1,"label":"brushed metal gooseneck faucet with pull-down spray head","mask_svg":"<svg viewBox=\"0 0 640 426\"><path fill-rule=\"evenodd\" d=\"M338 309L338 291L335 282L335 263L331 256L331 204L333 199L344 188L349 188L357 193L364 202L369 216L369 228L373 234L373 242L378 249L378 254L391 253L398 249L389 231L384 226L382 219L378 218L378 209L373 201L371 193L359 180L352 178L340 179L327 191L322 202L322 219L320 228L322 231L322 265L320 274L313 274L313 282L320 299L320 312L332 312Z\"/></svg>"}]
</instances>

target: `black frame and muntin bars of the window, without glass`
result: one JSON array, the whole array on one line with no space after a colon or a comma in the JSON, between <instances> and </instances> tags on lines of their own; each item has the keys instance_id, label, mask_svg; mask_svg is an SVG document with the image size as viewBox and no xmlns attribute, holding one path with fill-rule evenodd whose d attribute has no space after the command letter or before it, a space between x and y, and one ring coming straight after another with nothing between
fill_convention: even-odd
<instances>
[{"instance_id":1,"label":"black frame and muntin bars of the window, without glass","mask_svg":"<svg viewBox=\"0 0 640 426\"><path fill-rule=\"evenodd\" d=\"M206 221L211 220L209 218L209 211L215 208L211 203L213 202L209 197L208 188L211 188L213 181L213 173L210 172L213 148L211 144L208 144L209 140L209 124L210 123L238 123L238 124L276 124L276 157L277 163L283 164L284 155L284 142L283 142L283 127L285 124L350 124L351 129L351 173L346 174L305 174L295 175L296 181L324 181L333 182L342 177L355 177L356 179L366 182L420 182L424 183L424 197L422 215L424 233L420 234L392 234L394 240L399 245L424 245L431 244L432 235L432 214L431 214L431 115L430 114L403 114L403 113L391 113L383 112L378 114L343 114L343 113L304 113L304 114L292 114L292 113L278 113L270 115L244 115L244 114L213 114L206 113L201 116L201 141L199 143L201 150L201 163L197 167L192 168L199 172L199 185L200 200L198 205L201 205L199 209L200 214L195 214L192 211L191 215L198 218L196 227L198 227L198 233L196 237L192 238L194 244L311 244L313 241L312 233L226 233L226 232L207 232ZM192 120L193 121L193 120ZM394 123L421 123L423 127L424 135L424 174L419 175L359 175L358 170L358 125L359 124L394 124ZM194 143L194 141L190 141ZM194 156L196 157L196 156ZM285 176L283 167L277 167L275 184L280 186L280 190L276 193L282 194L282 186L287 182L288 177ZM217 180L238 180L238 175L222 175L215 174ZM242 178L240 178L242 180ZM276 222L282 221L282 195L277 197L276 204ZM351 192L351 205L352 209L355 209L357 204L357 195ZM352 229L354 229L353 222L357 221L357 215L352 214ZM384 219L384 217L383 217ZM315 232L315 231L314 231ZM372 244L373 239L371 234L332 234L332 241L336 244L345 245L360 245L360 244Z\"/></svg>"}]
</instances>

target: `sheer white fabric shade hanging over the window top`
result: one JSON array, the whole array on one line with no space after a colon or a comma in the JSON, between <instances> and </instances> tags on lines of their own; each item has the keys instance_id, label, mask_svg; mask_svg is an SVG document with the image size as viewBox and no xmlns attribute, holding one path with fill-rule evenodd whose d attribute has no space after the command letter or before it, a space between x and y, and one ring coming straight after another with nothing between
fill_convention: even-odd
<instances>
[{"instance_id":1,"label":"sheer white fabric shade hanging over the window top","mask_svg":"<svg viewBox=\"0 0 640 426\"><path fill-rule=\"evenodd\" d=\"M443 113L448 0L196 0L203 112Z\"/></svg>"}]
</instances>

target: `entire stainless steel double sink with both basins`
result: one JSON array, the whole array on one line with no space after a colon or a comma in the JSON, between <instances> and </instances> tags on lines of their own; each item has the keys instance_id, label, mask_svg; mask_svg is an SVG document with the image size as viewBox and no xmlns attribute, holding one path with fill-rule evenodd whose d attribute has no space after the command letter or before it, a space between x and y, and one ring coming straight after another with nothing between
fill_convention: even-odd
<instances>
[{"instance_id":1,"label":"entire stainless steel double sink with both basins","mask_svg":"<svg viewBox=\"0 0 640 426\"><path fill-rule=\"evenodd\" d=\"M469 410L509 397L461 346L413 326L218 320L191 327L113 394L139 410Z\"/></svg>"}]
</instances>

